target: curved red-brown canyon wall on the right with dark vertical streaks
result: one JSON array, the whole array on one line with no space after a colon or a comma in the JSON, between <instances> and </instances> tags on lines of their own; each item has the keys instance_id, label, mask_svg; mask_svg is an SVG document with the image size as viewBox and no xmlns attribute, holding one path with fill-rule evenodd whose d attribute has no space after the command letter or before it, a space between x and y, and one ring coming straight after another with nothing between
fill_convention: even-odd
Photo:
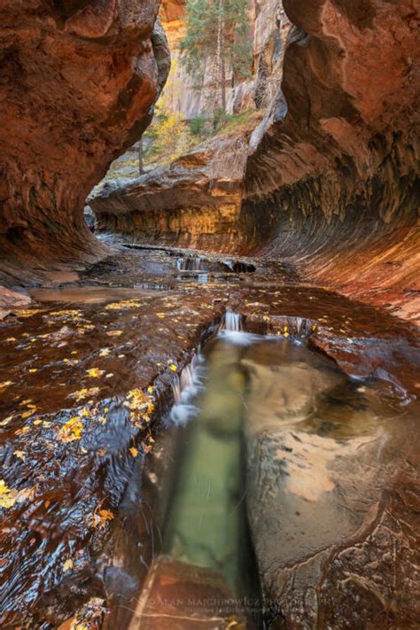
<instances>
[{"instance_id":1,"label":"curved red-brown canyon wall on the right with dark vertical streaks","mask_svg":"<svg viewBox=\"0 0 420 630\"><path fill-rule=\"evenodd\" d=\"M283 93L251 141L243 233L310 279L412 319L420 245L410 2L288 0Z\"/></svg>"}]
</instances>

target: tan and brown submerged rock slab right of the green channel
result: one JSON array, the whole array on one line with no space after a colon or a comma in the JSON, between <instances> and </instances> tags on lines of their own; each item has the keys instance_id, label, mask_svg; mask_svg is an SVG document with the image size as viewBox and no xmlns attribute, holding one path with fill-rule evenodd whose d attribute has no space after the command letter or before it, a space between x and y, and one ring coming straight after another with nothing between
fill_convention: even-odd
<instances>
[{"instance_id":1,"label":"tan and brown submerged rock slab right of the green channel","mask_svg":"<svg viewBox=\"0 0 420 630\"><path fill-rule=\"evenodd\" d=\"M414 451L393 429L404 403L377 408L375 390L303 348L273 358L274 367L255 365L251 350L243 360L247 509L264 618L269 627L415 628L414 513L400 500ZM406 415L412 425L415 412ZM409 476L402 483L399 469Z\"/></svg>"}]
</instances>

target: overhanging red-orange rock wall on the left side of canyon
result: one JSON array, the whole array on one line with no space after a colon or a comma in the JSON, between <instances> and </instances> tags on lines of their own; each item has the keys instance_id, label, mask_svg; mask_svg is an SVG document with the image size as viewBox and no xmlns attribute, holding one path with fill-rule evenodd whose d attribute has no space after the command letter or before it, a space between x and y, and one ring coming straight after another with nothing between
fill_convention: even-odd
<instances>
[{"instance_id":1,"label":"overhanging red-orange rock wall on the left side of canyon","mask_svg":"<svg viewBox=\"0 0 420 630\"><path fill-rule=\"evenodd\" d=\"M104 255L84 199L151 119L169 68L157 11L155 0L1 0L0 282L64 278Z\"/></svg>"}]
</instances>

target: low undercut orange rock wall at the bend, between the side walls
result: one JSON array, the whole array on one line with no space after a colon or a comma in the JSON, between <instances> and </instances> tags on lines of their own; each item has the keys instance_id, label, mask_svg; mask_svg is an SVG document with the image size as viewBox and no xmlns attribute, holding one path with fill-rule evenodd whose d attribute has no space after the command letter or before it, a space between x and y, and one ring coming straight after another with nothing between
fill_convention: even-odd
<instances>
[{"instance_id":1,"label":"low undercut orange rock wall at the bend, between the side walls","mask_svg":"<svg viewBox=\"0 0 420 630\"><path fill-rule=\"evenodd\" d=\"M97 229L229 252L241 238L246 155L246 134L216 136L132 182L105 183L89 199Z\"/></svg>"}]
</instances>

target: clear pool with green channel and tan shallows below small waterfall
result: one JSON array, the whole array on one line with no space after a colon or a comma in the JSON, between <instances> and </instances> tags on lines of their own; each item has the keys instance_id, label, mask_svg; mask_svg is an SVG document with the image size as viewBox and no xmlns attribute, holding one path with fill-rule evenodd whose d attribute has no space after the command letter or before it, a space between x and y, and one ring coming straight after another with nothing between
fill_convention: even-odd
<instances>
[{"instance_id":1,"label":"clear pool with green channel and tan shallows below small waterfall","mask_svg":"<svg viewBox=\"0 0 420 630\"><path fill-rule=\"evenodd\" d=\"M148 505L147 530L159 531L159 542L125 599L129 627L162 630L181 618L179 628L260 627L254 549L269 572L275 558L299 556L302 523L310 524L306 548L351 531L355 517L348 504L343 511L337 485L350 494L354 479L346 476L359 466L363 500L376 498L364 457L375 452L377 474L407 401L390 384L347 377L299 342L241 331L240 315L229 310L183 370L175 397L157 438L157 452L170 452L172 463L146 458L142 468L167 499L164 516L161 502L156 511Z\"/></svg>"}]
</instances>

